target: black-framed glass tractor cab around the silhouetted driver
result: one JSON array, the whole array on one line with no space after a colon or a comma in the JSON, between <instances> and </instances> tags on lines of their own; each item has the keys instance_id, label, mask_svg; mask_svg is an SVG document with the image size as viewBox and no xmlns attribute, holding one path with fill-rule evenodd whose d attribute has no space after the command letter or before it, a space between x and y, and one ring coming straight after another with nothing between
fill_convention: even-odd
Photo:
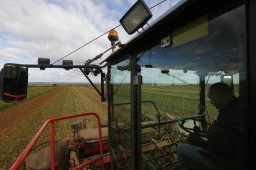
<instances>
[{"instance_id":1,"label":"black-framed glass tractor cab around the silhouetted driver","mask_svg":"<svg viewBox=\"0 0 256 170\"><path fill-rule=\"evenodd\" d=\"M105 60L114 169L173 168L177 145L203 144L218 117L208 101L211 84L233 88L245 124L246 29L242 1L180 1ZM168 147L160 143L164 139ZM151 144L164 147L156 153Z\"/></svg>"}]
</instances>

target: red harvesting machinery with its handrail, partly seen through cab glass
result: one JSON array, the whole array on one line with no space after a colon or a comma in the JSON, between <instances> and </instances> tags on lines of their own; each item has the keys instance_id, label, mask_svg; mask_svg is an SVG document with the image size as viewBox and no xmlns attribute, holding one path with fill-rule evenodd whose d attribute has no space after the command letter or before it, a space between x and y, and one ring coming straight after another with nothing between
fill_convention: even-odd
<instances>
[{"instance_id":1,"label":"red harvesting machinery with its handrail, partly seen through cab glass","mask_svg":"<svg viewBox=\"0 0 256 170\"><path fill-rule=\"evenodd\" d=\"M87 115L93 115L97 118L98 128L79 129L79 123L74 123L72 124L73 137L54 141L55 121ZM169 115L164 115L164 117L169 118ZM51 124L51 145L28 155L48 124ZM143 129L142 142L144 145L142 153L143 155L150 153L154 157L155 155L159 155L159 157L168 155L166 158L156 161L156 163L163 168L177 166L177 156L173 153L173 150L184 139L184 136L182 136L183 134L179 132L174 123L161 127L160 131L153 127ZM119 145L119 150L123 163L126 163L127 158L131 156L130 150L124 149L122 145ZM143 158L148 160L148 156L145 155ZM111 156L109 154L108 127L101 127L100 118L95 113L80 113L49 119L43 124L10 169L19 168L24 160L26 169L109 169ZM148 161L148 164L153 167L151 161ZM120 167L120 169L122 168Z\"/></svg>"}]
</instances>

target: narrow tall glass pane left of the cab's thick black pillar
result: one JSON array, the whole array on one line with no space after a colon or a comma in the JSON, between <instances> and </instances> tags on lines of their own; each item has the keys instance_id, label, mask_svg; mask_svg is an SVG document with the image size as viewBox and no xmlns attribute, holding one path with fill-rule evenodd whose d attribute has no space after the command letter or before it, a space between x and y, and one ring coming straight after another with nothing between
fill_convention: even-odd
<instances>
[{"instance_id":1,"label":"narrow tall glass pane left of the cab's thick black pillar","mask_svg":"<svg viewBox=\"0 0 256 170\"><path fill-rule=\"evenodd\" d=\"M130 129L130 62L124 60L112 65L111 71L111 115L109 140L111 140L114 169L130 166L131 157L123 158L123 152L131 147Z\"/></svg>"}]
</instances>

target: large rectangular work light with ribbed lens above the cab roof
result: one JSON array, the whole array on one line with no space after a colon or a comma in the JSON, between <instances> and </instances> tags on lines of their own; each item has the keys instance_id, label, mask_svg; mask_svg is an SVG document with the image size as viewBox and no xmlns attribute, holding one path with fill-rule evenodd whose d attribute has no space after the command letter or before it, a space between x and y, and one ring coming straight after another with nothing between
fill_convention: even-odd
<instances>
[{"instance_id":1,"label":"large rectangular work light with ribbed lens above the cab roof","mask_svg":"<svg viewBox=\"0 0 256 170\"><path fill-rule=\"evenodd\" d=\"M139 0L121 18L120 23L128 34L133 34L135 31L139 30L139 28L142 28L151 17L152 14L147 4Z\"/></svg>"}]
</instances>

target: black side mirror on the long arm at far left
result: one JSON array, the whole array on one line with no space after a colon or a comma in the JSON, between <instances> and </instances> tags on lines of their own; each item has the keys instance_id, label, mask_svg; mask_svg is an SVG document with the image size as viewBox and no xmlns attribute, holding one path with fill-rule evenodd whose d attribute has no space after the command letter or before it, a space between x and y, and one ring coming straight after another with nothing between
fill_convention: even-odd
<instances>
[{"instance_id":1,"label":"black side mirror on the long arm at far left","mask_svg":"<svg viewBox=\"0 0 256 170\"><path fill-rule=\"evenodd\" d=\"M4 102L20 102L27 98L28 68L6 63L0 72L0 92Z\"/></svg>"}]
</instances>

